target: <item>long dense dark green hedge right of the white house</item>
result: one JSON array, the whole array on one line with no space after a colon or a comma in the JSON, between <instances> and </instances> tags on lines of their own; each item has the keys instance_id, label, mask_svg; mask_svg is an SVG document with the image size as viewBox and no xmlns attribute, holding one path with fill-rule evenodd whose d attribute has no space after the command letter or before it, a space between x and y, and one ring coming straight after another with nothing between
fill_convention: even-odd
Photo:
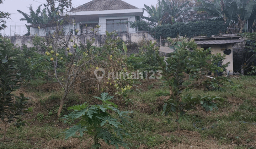
<instances>
[{"instance_id":1,"label":"long dense dark green hedge right of the white house","mask_svg":"<svg viewBox=\"0 0 256 149\"><path fill-rule=\"evenodd\" d=\"M194 36L207 36L218 35L219 33L225 34L228 28L228 24L224 24L223 21L198 21L188 23L175 23L165 24L151 28L151 36L155 39L161 38L176 38L177 35L186 37Z\"/></svg>"}]
</instances>

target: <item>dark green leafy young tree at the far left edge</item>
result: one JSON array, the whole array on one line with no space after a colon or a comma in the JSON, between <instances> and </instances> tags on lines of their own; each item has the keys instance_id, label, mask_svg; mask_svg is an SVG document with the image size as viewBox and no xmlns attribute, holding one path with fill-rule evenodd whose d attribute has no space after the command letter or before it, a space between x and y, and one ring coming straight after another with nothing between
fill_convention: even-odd
<instances>
[{"instance_id":1,"label":"dark green leafy young tree at the far left edge","mask_svg":"<svg viewBox=\"0 0 256 149\"><path fill-rule=\"evenodd\" d=\"M14 99L13 91L20 88L24 77L28 77L25 71L16 73L18 60L15 59L17 54L8 50L9 46L14 44L0 44L0 118L4 124L4 137L6 139L6 128L8 123L14 122L17 127L25 125L20 115L26 109L26 100L23 94Z\"/></svg>"}]
</instances>

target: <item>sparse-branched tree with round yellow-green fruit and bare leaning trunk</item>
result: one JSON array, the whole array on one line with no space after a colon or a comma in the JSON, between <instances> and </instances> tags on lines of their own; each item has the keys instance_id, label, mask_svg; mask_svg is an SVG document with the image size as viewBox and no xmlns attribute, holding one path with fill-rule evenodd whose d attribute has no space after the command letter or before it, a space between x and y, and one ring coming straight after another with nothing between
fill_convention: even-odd
<instances>
[{"instance_id":1,"label":"sparse-branched tree with round yellow-green fruit and bare leaning trunk","mask_svg":"<svg viewBox=\"0 0 256 149\"><path fill-rule=\"evenodd\" d=\"M76 32L79 31L76 30ZM94 33L96 32L97 29L94 30ZM107 32L106 34L106 43L100 48L92 46L95 41L94 35L88 36L85 44L78 43L81 35L72 35L70 40L66 40L66 42L71 43L70 45L63 44L63 46L59 46L59 44L53 44L48 47L48 51L45 53L47 55L46 60L54 68L54 77L64 90L60 100L58 116L61 114L68 93L73 88L87 81L96 80L94 75L93 77L85 76L86 73L90 73L91 70L95 70L98 66L107 66L106 60L111 61L112 59L110 53L117 54L118 51L121 51L120 48L117 48L117 40L112 39L115 33ZM126 47L125 44L122 47ZM124 51L126 52L126 50ZM66 68L65 75L62 76L59 75L60 64Z\"/></svg>"}]
</instances>

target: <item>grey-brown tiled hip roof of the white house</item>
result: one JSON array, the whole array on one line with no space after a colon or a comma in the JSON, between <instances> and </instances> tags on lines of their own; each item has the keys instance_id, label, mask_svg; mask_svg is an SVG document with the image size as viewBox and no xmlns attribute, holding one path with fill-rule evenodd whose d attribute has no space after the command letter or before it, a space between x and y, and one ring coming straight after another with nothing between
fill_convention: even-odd
<instances>
[{"instance_id":1,"label":"grey-brown tiled hip roof of the white house","mask_svg":"<svg viewBox=\"0 0 256 149\"><path fill-rule=\"evenodd\" d=\"M102 11L102 10L121 10L121 9L138 9L122 0L92 0L72 9L72 12L79 11Z\"/></svg>"}]
</instances>

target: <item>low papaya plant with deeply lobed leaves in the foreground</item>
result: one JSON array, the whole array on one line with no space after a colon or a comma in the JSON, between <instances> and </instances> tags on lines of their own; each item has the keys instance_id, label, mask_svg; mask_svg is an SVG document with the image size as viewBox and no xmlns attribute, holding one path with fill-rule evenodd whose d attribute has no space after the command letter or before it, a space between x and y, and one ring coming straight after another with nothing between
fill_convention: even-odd
<instances>
[{"instance_id":1,"label":"low papaya plant with deeply lobed leaves in the foreground","mask_svg":"<svg viewBox=\"0 0 256 149\"><path fill-rule=\"evenodd\" d=\"M100 140L105 141L108 145L116 146L117 149L118 145L128 148L123 139L129 134L122 127L129 123L127 118L132 111L119 111L117 105L110 101L113 100L113 97L108 93L101 93L101 97L94 97L102 102L101 105L84 103L69 107L69 110L74 111L62 118L66 120L78 119L79 122L64 132L66 133L65 139L85 137L84 133L86 133L86 137L94 139L92 147L95 149L101 147ZM76 135L77 132L79 136Z\"/></svg>"}]
</instances>

